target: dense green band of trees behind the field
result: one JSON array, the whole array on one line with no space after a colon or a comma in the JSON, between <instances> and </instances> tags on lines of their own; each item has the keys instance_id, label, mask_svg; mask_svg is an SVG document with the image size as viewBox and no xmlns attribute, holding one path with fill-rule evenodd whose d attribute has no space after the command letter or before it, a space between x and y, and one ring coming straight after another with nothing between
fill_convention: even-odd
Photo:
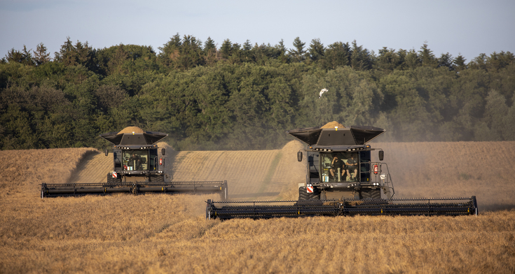
<instances>
[{"instance_id":1,"label":"dense green band of trees behind the field","mask_svg":"<svg viewBox=\"0 0 515 274\"><path fill-rule=\"evenodd\" d=\"M511 52L467 62L426 44L376 54L356 41L218 47L179 34L158 50L70 38L53 58L42 43L9 50L1 149L101 148L99 134L128 126L166 132L177 150L269 149L334 120L387 129L381 141L515 140Z\"/></svg>"}]
</instances>

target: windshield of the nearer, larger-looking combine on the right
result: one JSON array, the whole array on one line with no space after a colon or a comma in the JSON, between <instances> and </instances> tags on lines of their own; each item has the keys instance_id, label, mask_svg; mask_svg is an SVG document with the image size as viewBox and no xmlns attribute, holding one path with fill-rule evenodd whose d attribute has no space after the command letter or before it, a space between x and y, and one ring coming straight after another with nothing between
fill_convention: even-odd
<instances>
[{"instance_id":1,"label":"windshield of the nearer, larger-looking combine on the right","mask_svg":"<svg viewBox=\"0 0 515 274\"><path fill-rule=\"evenodd\" d=\"M321 182L352 182L357 177L357 152L320 153Z\"/></svg>"}]
</instances>

